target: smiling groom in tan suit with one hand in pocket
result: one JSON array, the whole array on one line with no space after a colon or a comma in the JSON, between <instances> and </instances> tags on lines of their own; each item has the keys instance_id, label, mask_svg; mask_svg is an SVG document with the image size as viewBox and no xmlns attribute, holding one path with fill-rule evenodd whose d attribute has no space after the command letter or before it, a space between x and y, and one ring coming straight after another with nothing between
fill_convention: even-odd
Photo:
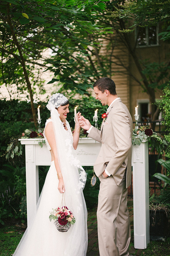
<instances>
[{"instance_id":1,"label":"smiling groom in tan suit with one hand in pocket","mask_svg":"<svg viewBox=\"0 0 170 256\"><path fill-rule=\"evenodd\" d=\"M108 105L101 131L82 117L80 125L88 137L99 141L100 153L94 165L100 179L97 208L100 256L128 256L130 219L127 187L131 183L132 118L117 97L115 83L108 77L93 85L96 100Z\"/></svg>"}]
</instances>

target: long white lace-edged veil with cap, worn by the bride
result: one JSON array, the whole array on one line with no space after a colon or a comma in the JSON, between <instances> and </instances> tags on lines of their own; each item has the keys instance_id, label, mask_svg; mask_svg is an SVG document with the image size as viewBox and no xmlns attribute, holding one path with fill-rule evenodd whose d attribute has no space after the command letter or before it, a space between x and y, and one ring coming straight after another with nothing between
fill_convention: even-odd
<instances>
[{"instance_id":1,"label":"long white lace-edged veil with cap, worn by the bride","mask_svg":"<svg viewBox=\"0 0 170 256\"><path fill-rule=\"evenodd\" d=\"M67 101L68 99L62 93L55 93L49 99L47 108L51 111L51 119L57 146L58 162L61 168L65 187L66 182L70 182L72 180L69 170L70 166L74 166L78 168L79 171L79 182L76 182L74 185L75 187L78 186L78 189L83 189L87 178L86 172L80 165L77 154L73 148L73 135L70 129L70 125L66 120L66 126L68 129L68 131L66 131L60 119L60 115L56 109L56 106L59 107L65 104ZM70 176L70 179L68 179L68 176Z\"/></svg>"}]
</instances>

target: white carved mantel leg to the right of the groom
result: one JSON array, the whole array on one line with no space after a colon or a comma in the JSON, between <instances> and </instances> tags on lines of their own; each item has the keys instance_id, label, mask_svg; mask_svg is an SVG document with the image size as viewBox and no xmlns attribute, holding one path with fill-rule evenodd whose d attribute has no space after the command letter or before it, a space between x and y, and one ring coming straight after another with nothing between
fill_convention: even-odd
<instances>
[{"instance_id":1,"label":"white carved mantel leg to the right of the groom","mask_svg":"<svg viewBox=\"0 0 170 256\"><path fill-rule=\"evenodd\" d=\"M133 146L134 248L149 243L149 171L148 141Z\"/></svg>"}]
</instances>

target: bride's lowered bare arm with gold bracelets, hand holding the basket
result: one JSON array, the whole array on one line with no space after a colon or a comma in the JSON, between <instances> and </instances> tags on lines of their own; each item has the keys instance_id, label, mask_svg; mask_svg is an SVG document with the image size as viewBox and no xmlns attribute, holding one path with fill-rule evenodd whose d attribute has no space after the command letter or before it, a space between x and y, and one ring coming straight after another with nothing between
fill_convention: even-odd
<instances>
[{"instance_id":1,"label":"bride's lowered bare arm with gold bracelets, hand holding the basket","mask_svg":"<svg viewBox=\"0 0 170 256\"><path fill-rule=\"evenodd\" d=\"M54 164L57 170L57 174L58 174L58 190L60 193L64 193L65 192L65 186L64 186L64 181L63 178L61 177L62 172L60 170L60 166L58 163L58 157L57 157L57 147L56 147L56 141L55 141L55 135L54 135L54 131L53 131L53 124L52 122L49 122L46 127L45 127L45 135L47 137L47 140L49 142L49 145L51 147L51 150L53 152L54 155Z\"/></svg>"}]
</instances>

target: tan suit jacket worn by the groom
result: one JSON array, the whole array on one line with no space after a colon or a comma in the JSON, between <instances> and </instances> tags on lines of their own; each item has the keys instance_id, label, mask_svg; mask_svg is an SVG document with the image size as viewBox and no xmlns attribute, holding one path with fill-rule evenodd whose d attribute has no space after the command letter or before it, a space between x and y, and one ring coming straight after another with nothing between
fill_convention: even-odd
<instances>
[{"instance_id":1,"label":"tan suit jacket worn by the groom","mask_svg":"<svg viewBox=\"0 0 170 256\"><path fill-rule=\"evenodd\" d=\"M88 137L102 143L94 165L96 176L99 177L106 168L119 185L127 166L126 188L130 186L132 130L131 115L119 98L108 108L108 117L103 120L101 131L92 127L88 134Z\"/></svg>"}]
</instances>

